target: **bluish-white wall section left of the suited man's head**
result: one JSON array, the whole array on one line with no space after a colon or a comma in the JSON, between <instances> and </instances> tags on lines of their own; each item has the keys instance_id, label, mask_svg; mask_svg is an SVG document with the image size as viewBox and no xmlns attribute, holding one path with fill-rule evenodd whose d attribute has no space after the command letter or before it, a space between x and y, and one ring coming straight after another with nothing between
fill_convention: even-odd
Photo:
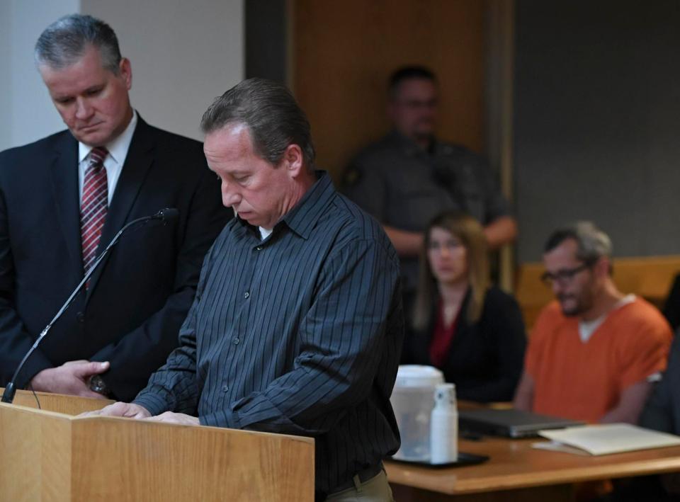
<instances>
[{"instance_id":1,"label":"bluish-white wall section left of the suited man's head","mask_svg":"<svg viewBox=\"0 0 680 502\"><path fill-rule=\"evenodd\" d=\"M0 110L4 110L0 150L63 129L33 64L33 47L47 25L79 8L79 0L0 1Z\"/></svg>"}]
</instances>

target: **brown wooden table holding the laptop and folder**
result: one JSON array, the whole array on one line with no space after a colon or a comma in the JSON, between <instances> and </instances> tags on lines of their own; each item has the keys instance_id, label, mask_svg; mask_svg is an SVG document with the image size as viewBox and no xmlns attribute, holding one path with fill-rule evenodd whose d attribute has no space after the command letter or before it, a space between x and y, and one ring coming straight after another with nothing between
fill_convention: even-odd
<instances>
[{"instance_id":1,"label":"brown wooden table holding the laptop and folder","mask_svg":"<svg viewBox=\"0 0 680 502\"><path fill-rule=\"evenodd\" d=\"M536 450L538 440L460 440L460 451L490 459L445 469L385 462L385 470L398 502L570 501L579 481L680 472L680 447L591 457Z\"/></svg>"}]
</instances>

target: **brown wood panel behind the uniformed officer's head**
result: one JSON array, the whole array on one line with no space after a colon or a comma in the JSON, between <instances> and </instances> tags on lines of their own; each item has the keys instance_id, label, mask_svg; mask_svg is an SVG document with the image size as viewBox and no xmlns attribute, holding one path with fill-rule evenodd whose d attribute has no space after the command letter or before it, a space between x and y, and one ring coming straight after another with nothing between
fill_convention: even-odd
<instances>
[{"instance_id":1,"label":"brown wood panel behind the uniformed officer's head","mask_svg":"<svg viewBox=\"0 0 680 502\"><path fill-rule=\"evenodd\" d=\"M386 83L403 64L438 74L438 135L484 145L485 2L290 0L290 86L312 123L317 165L338 179L390 128Z\"/></svg>"}]
</instances>

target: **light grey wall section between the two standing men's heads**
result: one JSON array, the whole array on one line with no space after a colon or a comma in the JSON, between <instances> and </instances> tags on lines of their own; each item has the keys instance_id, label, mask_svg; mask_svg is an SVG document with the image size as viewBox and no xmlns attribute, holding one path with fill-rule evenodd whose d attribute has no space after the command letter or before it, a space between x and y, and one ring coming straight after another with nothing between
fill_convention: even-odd
<instances>
[{"instance_id":1,"label":"light grey wall section between the two standing men's heads","mask_svg":"<svg viewBox=\"0 0 680 502\"><path fill-rule=\"evenodd\" d=\"M82 0L132 63L132 105L147 122L201 138L200 117L244 77L242 0Z\"/></svg>"}]
</instances>

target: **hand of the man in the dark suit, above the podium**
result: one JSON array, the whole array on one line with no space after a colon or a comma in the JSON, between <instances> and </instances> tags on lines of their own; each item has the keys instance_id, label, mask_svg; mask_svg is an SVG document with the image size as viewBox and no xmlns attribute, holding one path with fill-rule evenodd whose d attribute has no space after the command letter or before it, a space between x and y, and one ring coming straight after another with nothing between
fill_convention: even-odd
<instances>
[{"instance_id":1,"label":"hand of the man in the dark suit, above the podium","mask_svg":"<svg viewBox=\"0 0 680 502\"><path fill-rule=\"evenodd\" d=\"M92 375L99 375L108 371L109 366L108 362L69 361L61 366L48 367L38 372L30 381L30 386L38 392L106 399L102 394L91 391L88 382Z\"/></svg>"}]
</instances>

